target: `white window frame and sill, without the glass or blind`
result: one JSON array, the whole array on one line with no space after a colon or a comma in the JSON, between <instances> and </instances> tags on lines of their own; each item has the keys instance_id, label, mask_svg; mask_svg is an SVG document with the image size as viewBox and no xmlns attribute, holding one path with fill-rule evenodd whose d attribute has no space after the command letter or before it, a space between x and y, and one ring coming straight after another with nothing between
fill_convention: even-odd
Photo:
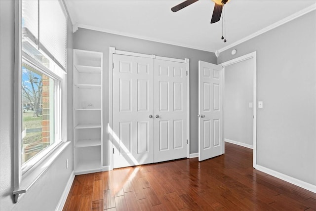
<instances>
[{"instance_id":1,"label":"white window frame and sill, without the glass or blind","mask_svg":"<svg viewBox=\"0 0 316 211\"><path fill-rule=\"evenodd\" d=\"M63 1L60 1L60 5L65 11L66 6ZM66 12L67 14L67 12ZM68 24L68 14L66 15L66 22ZM15 71L14 71L14 167L13 167L13 182L14 182L14 203L18 202L18 198L21 194L26 193L33 184L47 171L47 169L54 163L56 158L70 145L70 141L67 140L67 58L66 68L61 69L57 73L44 67L40 62L32 59L31 56L22 51L22 1L15 1ZM68 28L68 27L67 27ZM66 30L67 32L67 30ZM66 36L67 39L67 36ZM67 40L66 40L67 42ZM43 55L47 56L43 50ZM67 49L66 49L67 55ZM49 58L49 57L48 57ZM54 62L51 58L50 61ZM46 149L42 150L39 154L45 152L45 155L40 156L40 159L35 159L33 165L28 167L22 167L22 63L28 62L36 66L36 70L48 75L54 81L58 82L54 84L55 93L55 108L58 112L54 112L55 131L58 127L58 139L60 141L55 142ZM54 65L60 66L54 62ZM58 89L56 91L56 89ZM56 100L59 102L57 104ZM58 108L57 108L58 107ZM56 119L57 117L57 119ZM54 137L57 140L56 134ZM38 154L38 155L39 155ZM36 156L38 156L36 155ZM35 156L35 157L36 157ZM24 194L23 194L24 195ZM22 195L22 196L23 196Z\"/></svg>"}]
</instances>

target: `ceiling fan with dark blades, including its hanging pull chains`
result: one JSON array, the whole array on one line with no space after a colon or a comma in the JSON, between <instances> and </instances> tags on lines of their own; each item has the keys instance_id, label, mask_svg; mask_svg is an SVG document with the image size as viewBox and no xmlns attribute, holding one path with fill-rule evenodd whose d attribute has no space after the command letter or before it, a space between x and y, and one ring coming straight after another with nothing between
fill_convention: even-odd
<instances>
[{"instance_id":1,"label":"ceiling fan with dark blades, including its hanging pull chains","mask_svg":"<svg viewBox=\"0 0 316 211\"><path fill-rule=\"evenodd\" d=\"M197 0L185 0L181 3L179 3L178 5L175 5L174 7L172 7L171 11L177 12L180 9L183 9L184 7L187 7L196 1ZM224 15L222 14L222 11L223 11L224 5L229 0L212 0L212 1L214 1L215 4L214 4L214 10L213 10L212 19L211 19L211 24L218 22L219 20L221 20L221 17L222 17L222 38L221 39L224 40L224 42L227 42L227 40L225 39L225 37L226 37L226 17L225 17L226 12L225 12L225 10L226 9L224 9ZM224 23L223 23L223 16L224 16ZM223 31L224 31L224 35L223 35Z\"/></svg>"}]
</instances>

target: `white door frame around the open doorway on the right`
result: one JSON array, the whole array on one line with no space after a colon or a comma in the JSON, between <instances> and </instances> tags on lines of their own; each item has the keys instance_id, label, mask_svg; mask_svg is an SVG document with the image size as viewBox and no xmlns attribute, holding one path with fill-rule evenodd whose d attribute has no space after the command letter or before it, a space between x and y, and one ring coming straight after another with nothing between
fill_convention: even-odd
<instances>
[{"instance_id":1,"label":"white door frame around the open doorway on the right","mask_svg":"<svg viewBox=\"0 0 316 211\"><path fill-rule=\"evenodd\" d=\"M219 65L222 65L224 68L223 89L225 90L225 67L236 64L238 62L248 60L248 59L253 59L253 66L252 66L253 68L253 163L252 163L252 167L256 169L256 165L257 165L257 51L223 62ZM225 91L223 92L223 96L225 96ZM223 101L223 106L224 106L224 103L225 101ZM225 110L224 110L224 114L225 114ZM223 138L225 139L225 136ZM223 152L225 152L225 148Z\"/></svg>"}]
</instances>

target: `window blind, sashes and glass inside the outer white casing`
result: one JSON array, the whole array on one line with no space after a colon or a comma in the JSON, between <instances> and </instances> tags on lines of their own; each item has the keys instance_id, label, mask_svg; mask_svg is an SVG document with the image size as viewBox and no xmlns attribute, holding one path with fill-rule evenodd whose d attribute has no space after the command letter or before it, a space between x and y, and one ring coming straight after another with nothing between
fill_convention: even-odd
<instances>
[{"instance_id":1,"label":"window blind, sashes and glass inside the outer white casing","mask_svg":"<svg viewBox=\"0 0 316 211\"><path fill-rule=\"evenodd\" d=\"M62 140L59 96L66 27L67 15L59 1L22 1L22 175Z\"/></svg>"}]
</instances>

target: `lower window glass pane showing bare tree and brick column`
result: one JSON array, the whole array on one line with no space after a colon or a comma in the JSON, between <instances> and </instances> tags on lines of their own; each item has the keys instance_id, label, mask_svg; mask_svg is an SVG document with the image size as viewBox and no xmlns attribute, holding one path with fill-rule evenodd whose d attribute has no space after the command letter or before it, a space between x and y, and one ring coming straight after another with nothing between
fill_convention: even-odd
<instances>
[{"instance_id":1,"label":"lower window glass pane showing bare tree and brick column","mask_svg":"<svg viewBox=\"0 0 316 211\"><path fill-rule=\"evenodd\" d=\"M22 64L22 165L54 143L54 80Z\"/></svg>"}]
</instances>

